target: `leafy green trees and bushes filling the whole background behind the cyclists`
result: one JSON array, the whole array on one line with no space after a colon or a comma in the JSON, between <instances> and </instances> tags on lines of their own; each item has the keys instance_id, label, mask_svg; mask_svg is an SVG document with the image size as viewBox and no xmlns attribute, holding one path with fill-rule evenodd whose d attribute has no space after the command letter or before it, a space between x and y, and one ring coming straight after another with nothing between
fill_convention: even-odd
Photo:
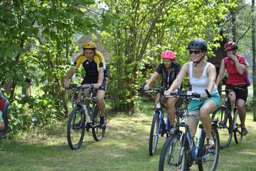
<instances>
[{"instance_id":1,"label":"leafy green trees and bushes filling the whole background behind the cyclists","mask_svg":"<svg viewBox=\"0 0 256 171\"><path fill-rule=\"evenodd\" d=\"M112 107L134 111L138 89L160 62L161 50L174 50L183 64L188 60L186 45L201 37L208 41L208 57L213 57L222 27L228 38L236 34L240 51L250 61L252 46L247 42L252 32L244 19L251 17L248 10L250 5L235 0L1 1L0 87L12 101L11 129L43 126L67 116L62 80L80 49L76 33L103 43L110 55L107 92ZM33 96L20 93L27 77L36 87Z\"/></svg>"}]
</instances>

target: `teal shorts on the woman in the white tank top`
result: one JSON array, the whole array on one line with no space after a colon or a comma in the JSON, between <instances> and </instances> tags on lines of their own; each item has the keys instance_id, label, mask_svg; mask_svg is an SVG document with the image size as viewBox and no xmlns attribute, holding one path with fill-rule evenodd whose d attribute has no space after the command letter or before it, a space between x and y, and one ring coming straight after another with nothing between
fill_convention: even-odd
<instances>
[{"instance_id":1,"label":"teal shorts on the woman in the white tank top","mask_svg":"<svg viewBox=\"0 0 256 171\"><path fill-rule=\"evenodd\" d=\"M210 94L210 98L199 98L199 99L192 99L188 105L188 112L190 111L197 111L203 106L203 104L208 101L212 100L215 101L217 108L220 106L220 95L218 92Z\"/></svg>"}]
</instances>

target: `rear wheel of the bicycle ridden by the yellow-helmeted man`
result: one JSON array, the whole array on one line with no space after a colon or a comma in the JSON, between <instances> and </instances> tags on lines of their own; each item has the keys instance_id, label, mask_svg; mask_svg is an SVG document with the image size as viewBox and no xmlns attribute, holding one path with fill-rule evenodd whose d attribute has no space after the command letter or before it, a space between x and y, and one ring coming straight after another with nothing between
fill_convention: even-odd
<instances>
[{"instance_id":1,"label":"rear wheel of the bicycle ridden by the yellow-helmeted man","mask_svg":"<svg viewBox=\"0 0 256 171\"><path fill-rule=\"evenodd\" d=\"M96 141L100 141L104 137L105 131L106 127L100 128L100 109L96 104L92 108L92 136Z\"/></svg>"}]
</instances>

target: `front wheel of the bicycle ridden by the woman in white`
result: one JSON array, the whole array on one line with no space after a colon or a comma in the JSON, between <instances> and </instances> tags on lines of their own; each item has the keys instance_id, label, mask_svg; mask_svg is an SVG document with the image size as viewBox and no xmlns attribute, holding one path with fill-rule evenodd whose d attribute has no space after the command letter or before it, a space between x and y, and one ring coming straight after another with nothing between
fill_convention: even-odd
<instances>
[{"instance_id":1,"label":"front wheel of the bicycle ridden by the woman in white","mask_svg":"<svg viewBox=\"0 0 256 171\"><path fill-rule=\"evenodd\" d=\"M182 150L181 136L177 133L172 134L166 138L166 142L161 150L159 159L159 171L164 170L181 170L188 169L187 156L189 150L187 148ZM183 155L181 155L183 154Z\"/></svg>"}]
</instances>

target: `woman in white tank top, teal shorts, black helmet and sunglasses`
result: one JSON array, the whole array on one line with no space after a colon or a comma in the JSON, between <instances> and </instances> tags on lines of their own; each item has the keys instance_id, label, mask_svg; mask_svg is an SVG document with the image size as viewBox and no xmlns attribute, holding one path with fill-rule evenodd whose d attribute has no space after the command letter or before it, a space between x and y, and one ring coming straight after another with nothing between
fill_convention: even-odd
<instances>
[{"instance_id":1,"label":"woman in white tank top, teal shorts, black helmet and sunglasses","mask_svg":"<svg viewBox=\"0 0 256 171\"><path fill-rule=\"evenodd\" d=\"M220 105L220 95L215 84L216 69L213 64L206 62L207 45L205 40L201 38L192 40L188 44L188 50L191 62L186 62L181 67L181 71L173 84L171 84L171 87L164 94L169 95L171 92L175 92L181 85L184 77L188 75L189 82L192 85L192 91L201 94L199 101L191 100L188 106L188 112L198 116L202 121L208 143L206 148L213 148L214 141L211 136L210 114ZM208 89L208 92L210 92L210 98L208 98L205 89ZM197 126L198 119L188 118L188 127L191 131L191 136L195 135Z\"/></svg>"}]
</instances>

